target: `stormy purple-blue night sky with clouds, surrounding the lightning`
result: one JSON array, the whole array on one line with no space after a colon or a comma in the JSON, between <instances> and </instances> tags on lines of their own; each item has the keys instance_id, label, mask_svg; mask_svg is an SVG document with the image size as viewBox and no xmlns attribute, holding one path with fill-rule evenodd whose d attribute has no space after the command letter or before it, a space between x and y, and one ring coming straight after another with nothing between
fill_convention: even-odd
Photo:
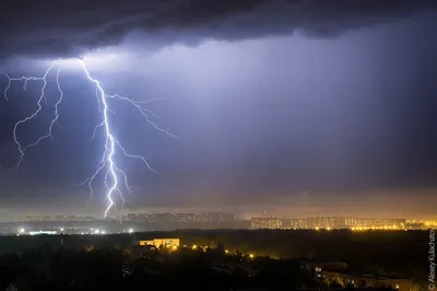
<instances>
[{"instance_id":1,"label":"stormy purple-blue night sky with clouds, surrounding the lightning","mask_svg":"<svg viewBox=\"0 0 437 291\"><path fill-rule=\"evenodd\" d=\"M15 170L13 126L36 109L42 83L0 95L0 219L103 213L103 186L92 201L75 186L104 138L92 139L101 115L76 57L107 92L172 101L149 108L180 140L111 101L118 139L158 173L117 158L134 186L127 212L437 218L435 0L3 2L0 69L42 75L62 59L64 102L54 139ZM22 143L47 132L56 72L48 80L48 106L19 128Z\"/></svg>"}]
</instances>

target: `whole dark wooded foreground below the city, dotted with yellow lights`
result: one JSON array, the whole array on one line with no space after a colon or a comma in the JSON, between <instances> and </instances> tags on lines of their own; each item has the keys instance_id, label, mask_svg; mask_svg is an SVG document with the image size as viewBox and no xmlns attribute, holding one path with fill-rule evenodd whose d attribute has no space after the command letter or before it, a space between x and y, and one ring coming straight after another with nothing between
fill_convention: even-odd
<instances>
[{"instance_id":1,"label":"whole dark wooded foreground below the city, dotted with yellow lights","mask_svg":"<svg viewBox=\"0 0 437 291\"><path fill-rule=\"evenodd\" d=\"M178 237L180 246L144 248L141 254L132 246L153 237ZM311 266L328 261L345 263L356 273L408 278L412 290L426 290L427 251L426 231L9 236L0 237L0 291L10 284L20 291L345 288L335 278L317 277Z\"/></svg>"}]
</instances>

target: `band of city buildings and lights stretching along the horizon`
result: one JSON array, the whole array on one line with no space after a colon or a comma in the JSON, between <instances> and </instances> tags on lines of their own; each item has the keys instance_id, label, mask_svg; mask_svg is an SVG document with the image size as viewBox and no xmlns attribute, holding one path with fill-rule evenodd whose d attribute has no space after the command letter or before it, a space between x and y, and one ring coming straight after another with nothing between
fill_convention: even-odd
<instances>
[{"instance_id":1,"label":"band of city buildings and lights stretching along the horizon","mask_svg":"<svg viewBox=\"0 0 437 291\"><path fill-rule=\"evenodd\" d=\"M241 219L234 213L129 213L118 219L79 216L26 216L19 221L0 221L0 234L120 234L178 230L312 230L312 231L417 231L437 226L437 220L405 218L307 216L303 218L263 217Z\"/></svg>"}]
</instances>

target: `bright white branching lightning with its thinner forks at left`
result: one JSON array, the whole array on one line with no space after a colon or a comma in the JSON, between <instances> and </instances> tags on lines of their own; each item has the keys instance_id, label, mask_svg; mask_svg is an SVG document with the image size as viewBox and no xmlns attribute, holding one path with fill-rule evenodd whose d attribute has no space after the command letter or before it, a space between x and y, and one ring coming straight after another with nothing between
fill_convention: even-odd
<instances>
[{"instance_id":1,"label":"bright white branching lightning with its thinner forks at left","mask_svg":"<svg viewBox=\"0 0 437 291\"><path fill-rule=\"evenodd\" d=\"M106 199L107 199L107 207L105 209L104 212L104 217L106 218L109 213L109 211L115 207L115 195L118 194L121 201L122 201L122 207L125 205L125 198L122 195L122 191L120 189L120 187L126 188L128 191L131 191L131 187L128 184L128 175L126 174L125 171L121 170L121 167L116 163L116 155L117 153L122 154L125 158L130 158L130 159L135 159L141 161L150 171L152 171L153 173L157 174L156 171L149 164L149 162L141 155L137 155L137 154L132 154L126 151L125 147L121 144L121 142L115 137L114 132L113 132L113 128L111 128L111 119L110 119L110 114L115 115L115 112L110 108L109 106L109 101L121 101L121 102L127 102L128 104L132 105L135 109L139 110L139 113L144 117L145 121L151 125L155 130L164 132L165 135L172 137L172 138L177 138L177 136L173 135L172 132L169 132L168 130L162 128L161 126L158 126L157 124L155 124L153 120L151 120L150 116L152 117L157 117L156 115L154 115L150 109L147 109L146 107L144 107L145 105L152 103L152 102L157 102L157 101L166 101L164 98L152 98L149 101L134 101L131 100L129 97L122 96L120 94L114 94L114 95L109 95L105 92L103 84L101 83L99 80L93 78L90 73L90 70L87 69L85 62L83 59L78 59L78 63L81 67L81 69L85 72L87 80L95 85L95 97L97 100L97 104L98 104L98 112L102 114L102 121L94 128L93 130L93 139L96 136L96 131L101 128L104 129L105 132L105 141L104 141L104 151L102 154L102 158L96 166L96 170L94 171L94 173L87 177L85 181L83 181L81 184L79 184L80 186L83 186L85 184L87 184L88 188L90 188L90 198L92 198L93 196L93 183L94 181L97 178L97 176L104 172L104 182L103 184L106 186ZM27 146L23 146L22 143L20 143L19 139L17 139L17 128L31 121L32 119L36 118L37 115L40 113L40 110L43 109L43 101L46 102L46 105L48 105L47 103L47 98L46 98L46 88L47 88L47 83L48 83L48 75L50 74L51 70L54 70L54 68L58 66L58 61L55 61L51 63L51 66L46 70L45 74L43 77L21 77L21 78L11 78L8 73L5 72L1 72L3 73L7 78L8 78L8 85L3 92L4 94L4 98L8 101L8 92L12 85L13 82L24 82L23 84L23 89L26 90L26 85L28 81L42 81L43 82L43 86L40 90L40 95L39 98L37 100L37 109L29 116L19 120L13 129L13 137L14 137L14 141L17 146L17 150L20 152L20 160L16 164L16 167L20 167L24 155L26 153L26 151L29 148L36 147L38 146L43 140L47 139L47 138L52 138L52 129L55 125L58 125L58 120L59 120L59 106L63 101L63 92L61 90L61 85L60 85L60 72L61 72L61 66L59 66L58 70L57 70L57 74L56 74L56 83L58 86L58 92L59 92L59 98L58 101L55 103L54 105L54 118L50 120L50 124L48 126L48 132L39 138L36 139L35 142L27 144Z\"/></svg>"}]
</instances>

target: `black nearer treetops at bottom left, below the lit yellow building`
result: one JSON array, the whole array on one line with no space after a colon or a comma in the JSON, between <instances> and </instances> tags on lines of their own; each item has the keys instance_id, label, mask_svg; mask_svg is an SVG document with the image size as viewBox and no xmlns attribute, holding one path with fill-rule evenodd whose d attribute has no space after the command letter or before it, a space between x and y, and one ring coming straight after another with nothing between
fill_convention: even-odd
<instances>
[{"instance_id":1,"label":"black nearer treetops at bottom left, below the lit yellow building","mask_svg":"<svg viewBox=\"0 0 437 291\"><path fill-rule=\"evenodd\" d=\"M316 287L298 260L251 258L181 248L127 263L119 249L50 251L40 247L0 257L0 290L240 290ZM256 270L256 271L255 271Z\"/></svg>"}]
</instances>

